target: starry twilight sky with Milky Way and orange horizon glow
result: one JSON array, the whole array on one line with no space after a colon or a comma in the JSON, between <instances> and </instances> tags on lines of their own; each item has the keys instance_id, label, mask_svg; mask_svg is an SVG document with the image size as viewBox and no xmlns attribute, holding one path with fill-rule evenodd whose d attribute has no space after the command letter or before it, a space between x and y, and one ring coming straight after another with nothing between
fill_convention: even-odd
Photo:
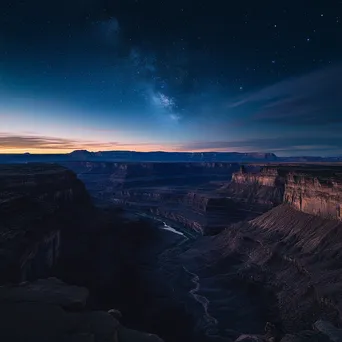
<instances>
[{"instance_id":1,"label":"starry twilight sky with Milky Way and orange horizon glow","mask_svg":"<svg viewBox=\"0 0 342 342\"><path fill-rule=\"evenodd\" d=\"M2 0L0 153L342 155L342 1Z\"/></svg>"}]
</instances>

